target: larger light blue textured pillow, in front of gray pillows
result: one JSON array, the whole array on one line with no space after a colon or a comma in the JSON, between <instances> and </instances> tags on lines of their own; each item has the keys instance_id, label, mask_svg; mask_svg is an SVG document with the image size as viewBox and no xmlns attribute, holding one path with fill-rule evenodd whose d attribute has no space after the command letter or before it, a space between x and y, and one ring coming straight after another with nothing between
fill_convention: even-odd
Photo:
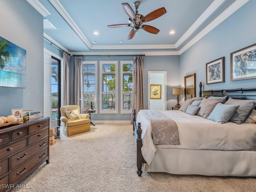
<instances>
[{"instance_id":1,"label":"larger light blue textured pillow, in front of gray pillows","mask_svg":"<svg viewBox=\"0 0 256 192\"><path fill-rule=\"evenodd\" d=\"M238 107L239 105L227 105L218 103L212 110L211 114L208 116L208 119L218 123L226 123L228 120L230 120Z\"/></svg>"}]
</instances>

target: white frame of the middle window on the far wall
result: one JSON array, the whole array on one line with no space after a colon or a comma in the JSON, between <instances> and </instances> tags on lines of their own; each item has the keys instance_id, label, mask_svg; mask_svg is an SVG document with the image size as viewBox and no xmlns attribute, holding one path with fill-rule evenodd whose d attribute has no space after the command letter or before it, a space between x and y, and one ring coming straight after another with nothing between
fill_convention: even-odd
<instances>
[{"instance_id":1,"label":"white frame of the middle window on the far wall","mask_svg":"<svg viewBox=\"0 0 256 192\"><path fill-rule=\"evenodd\" d=\"M115 110L110 109L103 109L102 108L102 94L107 93L103 91L103 74L107 74L107 72L102 71L102 67L104 64L115 64L116 65L116 71L115 71L115 78L116 78L116 84L115 84ZM113 93L113 92L112 92ZM100 61L100 114L118 114L118 61Z\"/></svg>"}]
</instances>

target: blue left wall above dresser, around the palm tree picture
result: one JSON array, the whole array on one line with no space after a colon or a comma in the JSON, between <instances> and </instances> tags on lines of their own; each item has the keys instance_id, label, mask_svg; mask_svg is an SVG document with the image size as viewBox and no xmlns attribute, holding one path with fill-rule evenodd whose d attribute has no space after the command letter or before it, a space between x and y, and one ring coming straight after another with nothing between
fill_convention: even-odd
<instances>
[{"instance_id":1,"label":"blue left wall above dresser, around the palm tree picture","mask_svg":"<svg viewBox=\"0 0 256 192\"><path fill-rule=\"evenodd\" d=\"M26 50L26 88L0 87L0 116L12 108L43 112L43 16L25 0L0 4L0 36Z\"/></svg>"}]
</instances>

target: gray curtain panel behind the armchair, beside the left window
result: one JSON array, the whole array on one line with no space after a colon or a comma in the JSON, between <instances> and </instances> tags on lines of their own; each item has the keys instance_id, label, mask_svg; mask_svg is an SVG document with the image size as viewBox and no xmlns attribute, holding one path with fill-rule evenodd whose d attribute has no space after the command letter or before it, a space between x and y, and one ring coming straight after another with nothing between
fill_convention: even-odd
<instances>
[{"instance_id":1,"label":"gray curtain panel behind the armchair, beside the left window","mask_svg":"<svg viewBox=\"0 0 256 192\"><path fill-rule=\"evenodd\" d=\"M74 104L80 106L80 113L84 113L83 87L83 58L75 57L74 66Z\"/></svg>"}]
</instances>

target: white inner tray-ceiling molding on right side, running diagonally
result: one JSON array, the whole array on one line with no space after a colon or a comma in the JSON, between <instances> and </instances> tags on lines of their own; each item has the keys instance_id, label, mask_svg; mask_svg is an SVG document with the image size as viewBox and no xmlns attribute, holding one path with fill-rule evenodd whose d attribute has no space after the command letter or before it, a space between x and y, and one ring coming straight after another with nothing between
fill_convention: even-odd
<instances>
[{"instance_id":1,"label":"white inner tray-ceiling molding on right side, running diagonally","mask_svg":"<svg viewBox=\"0 0 256 192\"><path fill-rule=\"evenodd\" d=\"M200 15L200 17L190 26L190 28L176 42L175 47L180 46L188 39L223 3L225 0L214 0L212 4Z\"/></svg>"}]
</instances>

